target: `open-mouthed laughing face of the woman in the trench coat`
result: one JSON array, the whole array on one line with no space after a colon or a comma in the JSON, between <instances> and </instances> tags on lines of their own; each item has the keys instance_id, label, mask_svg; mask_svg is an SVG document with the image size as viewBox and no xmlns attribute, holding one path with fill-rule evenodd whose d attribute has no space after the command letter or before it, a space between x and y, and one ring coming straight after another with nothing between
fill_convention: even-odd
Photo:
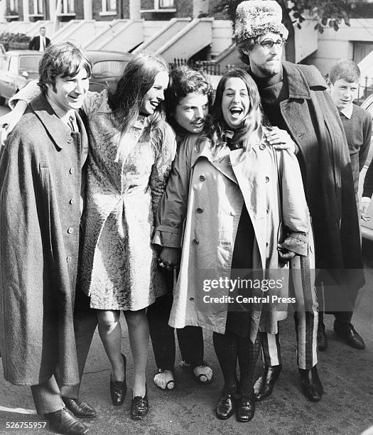
<instances>
[{"instance_id":1,"label":"open-mouthed laughing face of the woman in the trench coat","mask_svg":"<svg viewBox=\"0 0 373 435\"><path fill-rule=\"evenodd\" d=\"M250 108L249 94L244 80L229 77L222 93L222 115L228 127L237 130Z\"/></svg>"}]
</instances>

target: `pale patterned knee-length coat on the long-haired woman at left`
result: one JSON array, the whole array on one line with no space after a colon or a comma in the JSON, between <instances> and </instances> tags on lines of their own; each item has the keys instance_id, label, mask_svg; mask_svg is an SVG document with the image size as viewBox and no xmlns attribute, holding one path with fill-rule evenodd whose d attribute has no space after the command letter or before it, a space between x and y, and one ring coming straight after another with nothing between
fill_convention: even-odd
<instances>
[{"instance_id":1,"label":"pale patterned knee-length coat on the long-haired woman at left","mask_svg":"<svg viewBox=\"0 0 373 435\"><path fill-rule=\"evenodd\" d=\"M136 311L166 292L151 237L175 156L175 134L166 122L152 132L149 118L139 117L121 138L107 91L88 95L83 109L91 148L82 289L92 308Z\"/></svg>"}]
</instances>

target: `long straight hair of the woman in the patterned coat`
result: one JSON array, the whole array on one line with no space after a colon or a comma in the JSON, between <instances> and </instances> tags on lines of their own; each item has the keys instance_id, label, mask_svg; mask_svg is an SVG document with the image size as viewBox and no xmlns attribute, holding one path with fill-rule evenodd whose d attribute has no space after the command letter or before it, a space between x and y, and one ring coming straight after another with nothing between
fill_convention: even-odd
<instances>
[{"instance_id":1,"label":"long straight hair of the woman in the patterned coat","mask_svg":"<svg viewBox=\"0 0 373 435\"><path fill-rule=\"evenodd\" d=\"M121 136L136 122L144 95L153 86L156 75L163 71L168 73L166 61L148 53L139 53L124 68L117 90L108 97L110 109L120 118ZM158 127L164 119L163 104L158 104L151 115L151 128Z\"/></svg>"}]
</instances>

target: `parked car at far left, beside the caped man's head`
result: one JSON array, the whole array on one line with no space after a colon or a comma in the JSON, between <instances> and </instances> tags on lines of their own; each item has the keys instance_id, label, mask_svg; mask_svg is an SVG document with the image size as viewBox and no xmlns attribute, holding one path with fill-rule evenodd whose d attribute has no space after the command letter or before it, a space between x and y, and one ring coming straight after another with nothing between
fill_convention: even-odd
<instances>
[{"instance_id":1,"label":"parked car at far left, beside the caped man's head","mask_svg":"<svg viewBox=\"0 0 373 435\"><path fill-rule=\"evenodd\" d=\"M5 54L0 66L0 104L12 97L31 80L38 78L42 53L33 50L12 50Z\"/></svg>"}]
</instances>

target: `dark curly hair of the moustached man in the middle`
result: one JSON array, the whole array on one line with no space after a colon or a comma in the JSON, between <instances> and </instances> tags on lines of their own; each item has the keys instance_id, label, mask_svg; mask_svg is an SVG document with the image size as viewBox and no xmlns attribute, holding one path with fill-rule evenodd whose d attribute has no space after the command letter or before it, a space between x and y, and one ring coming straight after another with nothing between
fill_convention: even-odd
<instances>
[{"instance_id":1,"label":"dark curly hair of the moustached man in the middle","mask_svg":"<svg viewBox=\"0 0 373 435\"><path fill-rule=\"evenodd\" d=\"M187 65L173 68L170 73L170 82L165 92L166 98L166 119L173 129L178 129L175 121L176 106L191 92L198 92L206 95L209 107L212 104L212 86L207 75L200 70L193 70Z\"/></svg>"}]
</instances>

